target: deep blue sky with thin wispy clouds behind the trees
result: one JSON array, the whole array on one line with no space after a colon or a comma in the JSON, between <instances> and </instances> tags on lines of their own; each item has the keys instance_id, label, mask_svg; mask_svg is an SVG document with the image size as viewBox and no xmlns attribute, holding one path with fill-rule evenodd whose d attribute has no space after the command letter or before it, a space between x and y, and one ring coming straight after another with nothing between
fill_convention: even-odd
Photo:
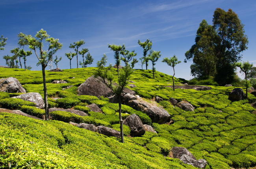
<instances>
[{"instance_id":1,"label":"deep blue sky with thin wispy clouds behind the trees","mask_svg":"<svg viewBox=\"0 0 256 169\"><path fill-rule=\"evenodd\" d=\"M1 0L0 35L8 39L5 50L0 51L0 65L5 65L3 56L12 55L10 50L18 47L17 35L20 32L35 36L43 28L48 35L58 38L63 44L62 49L56 53L58 57L62 56L58 63L60 69L70 68L65 53L74 52L69 45L80 39L86 43L79 49L89 49L94 58L93 64L89 66L95 67L96 61L104 53L108 56L108 63L115 64L114 53L108 44L125 44L127 50L135 49L139 60L143 49L137 42L144 42L148 38L152 40L152 49L161 51L161 58L156 63L157 71L173 75L171 67L161 60L175 54L182 61L175 67L175 76L189 80L192 78L192 62L184 63L184 54L195 43L200 22L205 19L212 25L213 12L217 7L225 11L232 9L245 25L249 45L241 53L242 61L249 60L255 66L255 0ZM29 49L25 47L24 50ZM81 55L78 60L82 61ZM36 66L37 62L33 53L28 56L26 65L32 66L32 70L41 70L41 65ZM76 68L76 58L72 59L71 64L72 68ZM137 63L134 68L141 69L141 66Z\"/></svg>"}]
</instances>

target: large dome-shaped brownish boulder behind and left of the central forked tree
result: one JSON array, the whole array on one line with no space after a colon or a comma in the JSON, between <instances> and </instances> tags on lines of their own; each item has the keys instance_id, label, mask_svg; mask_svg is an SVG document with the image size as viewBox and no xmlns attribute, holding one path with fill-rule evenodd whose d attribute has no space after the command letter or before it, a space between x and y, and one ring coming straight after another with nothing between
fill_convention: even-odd
<instances>
[{"instance_id":1,"label":"large dome-shaped brownish boulder behind and left of the central forked tree","mask_svg":"<svg viewBox=\"0 0 256 169\"><path fill-rule=\"evenodd\" d=\"M102 78L93 76L87 78L77 89L79 95L90 95L100 98L113 95L112 91L106 86Z\"/></svg>"}]
</instances>

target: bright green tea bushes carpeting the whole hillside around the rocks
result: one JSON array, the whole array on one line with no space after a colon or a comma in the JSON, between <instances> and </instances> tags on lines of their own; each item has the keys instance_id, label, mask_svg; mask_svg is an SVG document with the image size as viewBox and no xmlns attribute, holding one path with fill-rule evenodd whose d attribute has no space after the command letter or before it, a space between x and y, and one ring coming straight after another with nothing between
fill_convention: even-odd
<instances>
[{"instance_id":1,"label":"bright green tea bushes carpeting the whole hillside around the rocks","mask_svg":"<svg viewBox=\"0 0 256 169\"><path fill-rule=\"evenodd\" d=\"M72 126L67 122L86 122L105 125L119 130L118 104L106 98L77 96L77 87L93 75L96 68L65 69L63 72L46 71L46 86L49 98L67 98L72 109L84 110L89 116L80 118L70 113L56 112L53 120L35 120L10 113L0 113L0 168L131 168L131 169L196 169L169 157L172 147L185 147L198 159L208 162L206 169L230 169L230 167L256 166L256 110L250 105L256 97L231 102L228 94L236 87L210 86L211 90L173 89L172 76L156 72L153 79L150 70L136 69L131 76L136 87L130 88L142 100L163 107L171 121L165 124L152 123L147 114L128 105L122 105L122 113L137 114L143 124L152 125L156 133L146 132L141 137L130 136L129 127L124 127L124 144L118 138L108 137ZM41 71L0 68L0 78L15 77L28 93L43 96ZM117 75L115 69L112 72ZM75 77L75 78L73 78ZM65 80L67 84L50 84ZM175 78L175 84L184 79ZM73 85L69 89L63 88ZM245 89L243 89L245 91ZM32 105L13 102L9 97L19 93L0 92L0 106L20 109L34 116L42 116L43 110L30 111ZM163 101L155 102L156 96ZM194 111L174 107L170 98L187 101ZM18 99L17 99L18 100ZM77 102L71 103L72 100ZM60 102L48 100L49 105L61 107ZM11 103L11 104L9 104ZM95 103L104 114L88 111L85 105ZM75 105L75 107L73 107ZM79 105L79 106L76 106ZM126 114L122 116L127 117Z\"/></svg>"}]
</instances>

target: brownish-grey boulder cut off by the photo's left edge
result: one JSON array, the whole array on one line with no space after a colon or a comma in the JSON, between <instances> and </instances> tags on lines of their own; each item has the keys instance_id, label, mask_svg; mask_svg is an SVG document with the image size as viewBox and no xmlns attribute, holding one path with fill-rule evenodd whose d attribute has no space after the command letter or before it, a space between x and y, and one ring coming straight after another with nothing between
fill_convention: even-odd
<instances>
[{"instance_id":1,"label":"brownish-grey boulder cut off by the photo's left edge","mask_svg":"<svg viewBox=\"0 0 256 169\"><path fill-rule=\"evenodd\" d=\"M26 93L26 90L22 87L19 80L13 77L6 78L0 84L0 91L7 93Z\"/></svg>"}]
</instances>

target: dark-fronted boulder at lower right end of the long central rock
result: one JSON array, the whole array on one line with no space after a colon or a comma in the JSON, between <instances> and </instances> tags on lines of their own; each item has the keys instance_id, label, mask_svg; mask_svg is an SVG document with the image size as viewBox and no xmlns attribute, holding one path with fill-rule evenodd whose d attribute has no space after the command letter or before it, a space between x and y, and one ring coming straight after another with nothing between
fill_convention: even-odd
<instances>
[{"instance_id":1,"label":"dark-fronted boulder at lower right end of the long central rock","mask_svg":"<svg viewBox=\"0 0 256 169\"><path fill-rule=\"evenodd\" d=\"M146 114L152 120L152 123L164 124L171 118L170 114L159 107L153 106L146 110Z\"/></svg>"}]
</instances>

